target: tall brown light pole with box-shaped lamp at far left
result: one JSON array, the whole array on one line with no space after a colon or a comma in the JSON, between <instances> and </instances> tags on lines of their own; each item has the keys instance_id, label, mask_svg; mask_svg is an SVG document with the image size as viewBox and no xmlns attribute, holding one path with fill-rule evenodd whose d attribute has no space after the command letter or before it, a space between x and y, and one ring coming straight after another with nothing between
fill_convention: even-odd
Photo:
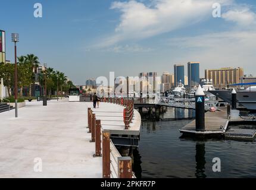
<instances>
[{"instance_id":1,"label":"tall brown light pole with box-shaped lamp at far left","mask_svg":"<svg viewBox=\"0 0 256 190\"><path fill-rule=\"evenodd\" d=\"M11 40L14 42L14 56L15 56L15 71L14 71L14 96L15 96L15 118L18 118L18 71L17 71L17 46L18 34L11 34Z\"/></svg>"}]
</instances>

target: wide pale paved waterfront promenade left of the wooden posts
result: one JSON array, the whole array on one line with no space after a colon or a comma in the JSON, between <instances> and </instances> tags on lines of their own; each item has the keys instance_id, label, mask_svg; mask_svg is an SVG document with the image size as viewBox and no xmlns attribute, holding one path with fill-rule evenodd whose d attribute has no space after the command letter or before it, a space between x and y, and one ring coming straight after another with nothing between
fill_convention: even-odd
<instances>
[{"instance_id":1,"label":"wide pale paved waterfront promenade left of the wooden posts","mask_svg":"<svg viewBox=\"0 0 256 190\"><path fill-rule=\"evenodd\" d=\"M87 115L88 104L67 100L27 103L17 119L14 110L0 113L0 178L101 178Z\"/></svg>"}]
</instances>

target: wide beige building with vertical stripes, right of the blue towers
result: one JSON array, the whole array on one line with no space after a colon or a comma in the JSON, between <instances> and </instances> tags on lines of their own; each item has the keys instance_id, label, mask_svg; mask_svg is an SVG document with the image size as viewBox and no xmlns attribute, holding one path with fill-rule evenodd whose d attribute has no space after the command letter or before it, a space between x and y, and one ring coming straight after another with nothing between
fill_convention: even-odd
<instances>
[{"instance_id":1,"label":"wide beige building with vertical stripes, right of the blue towers","mask_svg":"<svg viewBox=\"0 0 256 190\"><path fill-rule=\"evenodd\" d=\"M243 77L243 68L239 67L205 70L205 79L213 80L216 88L225 88L229 84L240 83L241 77Z\"/></svg>"}]
</instances>

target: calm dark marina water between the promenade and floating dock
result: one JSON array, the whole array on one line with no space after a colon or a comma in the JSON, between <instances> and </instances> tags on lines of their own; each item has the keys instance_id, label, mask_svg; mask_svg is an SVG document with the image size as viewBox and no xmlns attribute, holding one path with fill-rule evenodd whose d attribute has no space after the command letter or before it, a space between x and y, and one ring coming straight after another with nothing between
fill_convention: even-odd
<instances>
[{"instance_id":1,"label":"calm dark marina water between the promenade and floating dock","mask_svg":"<svg viewBox=\"0 0 256 190\"><path fill-rule=\"evenodd\" d=\"M137 178L256 178L255 141L180 138L179 129L193 116L192 110L168 108L164 121L142 122L133 151ZM221 172L212 170L214 157L221 159Z\"/></svg>"}]
</instances>

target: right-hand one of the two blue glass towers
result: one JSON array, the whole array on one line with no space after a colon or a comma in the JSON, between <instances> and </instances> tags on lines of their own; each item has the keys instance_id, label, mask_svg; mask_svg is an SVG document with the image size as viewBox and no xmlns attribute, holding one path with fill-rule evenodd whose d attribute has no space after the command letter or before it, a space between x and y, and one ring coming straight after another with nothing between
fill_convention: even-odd
<instances>
[{"instance_id":1,"label":"right-hand one of the two blue glass towers","mask_svg":"<svg viewBox=\"0 0 256 190\"><path fill-rule=\"evenodd\" d=\"M188 62L188 86L198 85L200 82L200 62Z\"/></svg>"}]
</instances>

